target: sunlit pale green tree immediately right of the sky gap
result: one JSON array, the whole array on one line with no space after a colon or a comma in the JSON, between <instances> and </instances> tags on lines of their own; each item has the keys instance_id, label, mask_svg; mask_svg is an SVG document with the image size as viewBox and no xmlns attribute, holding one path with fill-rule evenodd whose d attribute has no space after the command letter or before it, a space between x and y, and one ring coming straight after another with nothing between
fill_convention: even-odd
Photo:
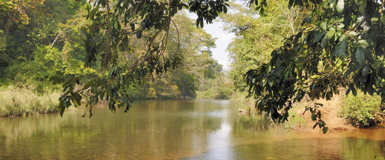
<instances>
[{"instance_id":1,"label":"sunlit pale green tree immediately right of the sky gap","mask_svg":"<svg viewBox=\"0 0 385 160\"><path fill-rule=\"evenodd\" d=\"M271 51L302 28L300 23L309 11L299 6L288 8L287 2L272 1L264 15L258 17L254 8L232 4L238 11L221 17L226 30L236 34L227 48L232 60L230 76L236 89L245 90L245 72L268 62Z\"/></svg>"}]
</instances>

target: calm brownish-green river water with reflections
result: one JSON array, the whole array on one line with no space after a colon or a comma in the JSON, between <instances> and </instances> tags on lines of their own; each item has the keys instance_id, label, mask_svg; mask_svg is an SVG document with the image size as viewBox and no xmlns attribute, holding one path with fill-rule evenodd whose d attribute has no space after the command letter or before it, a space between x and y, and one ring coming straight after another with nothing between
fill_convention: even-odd
<instances>
[{"instance_id":1,"label":"calm brownish-green river water with reflections","mask_svg":"<svg viewBox=\"0 0 385 160\"><path fill-rule=\"evenodd\" d=\"M296 133L236 100L139 100L0 118L0 159L385 159L385 129Z\"/></svg>"}]
</instances>

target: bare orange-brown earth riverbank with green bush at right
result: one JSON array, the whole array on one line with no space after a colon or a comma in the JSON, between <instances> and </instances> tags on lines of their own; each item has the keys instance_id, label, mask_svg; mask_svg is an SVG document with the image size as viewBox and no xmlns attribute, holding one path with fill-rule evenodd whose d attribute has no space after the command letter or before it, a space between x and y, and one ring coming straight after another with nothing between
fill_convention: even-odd
<instances>
[{"instance_id":1,"label":"bare orange-brown earth riverbank with green bush at right","mask_svg":"<svg viewBox=\"0 0 385 160\"><path fill-rule=\"evenodd\" d=\"M342 94L334 95L330 100L326 100L326 99L317 100L317 103L323 104L323 106L320 107L320 110L322 113L322 119L326 122L326 126L328 127L328 130L330 132L362 128L362 127L353 125L352 121L349 121L349 119L342 117L341 110L343 109L345 110L348 109L350 114L352 114L350 116L358 116L357 118L361 120L373 118L372 120L376 122L370 124L371 126L368 126L368 127L383 126L383 118L378 117L378 115L374 115L374 114L378 114L377 111L371 110L371 113L370 113L370 111L367 111L365 109L371 109L371 108L369 108L368 106L364 106L365 103L373 104L373 101L375 101L374 105L378 106L380 105L379 101L377 101L378 99L375 99L375 98L370 99L369 97L371 96L369 95L367 95L369 97L364 97L363 99L360 99L362 98L362 95L363 94L359 93L359 95L357 95L356 97L353 97L354 99L347 99L347 100L360 101L358 107L364 108L363 111L355 110L354 107L348 106L352 104L347 104L346 102L344 103L343 101L344 100L346 101L346 97ZM349 95L349 96L353 96L353 95ZM322 130L319 129L317 126L313 129L313 125L315 124L316 121L313 121L311 119L310 111L306 111L305 114L303 114L305 111L306 105L307 105L306 102L295 104L292 110L289 111L290 112L289 122L288 122L288 125L285 125L285 126L287 128L293 129L296 132L322 132ZM379 108L379 106L377 108Z\"/></svg>"}]
</instances>

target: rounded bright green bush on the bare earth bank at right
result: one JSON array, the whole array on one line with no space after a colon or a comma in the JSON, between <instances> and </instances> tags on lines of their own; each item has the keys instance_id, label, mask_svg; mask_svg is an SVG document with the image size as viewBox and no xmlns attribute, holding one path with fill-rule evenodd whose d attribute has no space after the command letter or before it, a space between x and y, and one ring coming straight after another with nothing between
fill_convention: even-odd
<instances>
[{"instance_id":1,"label":"rounded bright green bush on the bare earth bank at right","mask_svg":"<svg viewBox=\"0 0 385 160\"><path fill-rule=\"evenodd\" d=\"M381 97L358 92L348 95L341 103L339 115L355 127L368 127L383 120L380 115Z\"/></svg>"}]
</instances>

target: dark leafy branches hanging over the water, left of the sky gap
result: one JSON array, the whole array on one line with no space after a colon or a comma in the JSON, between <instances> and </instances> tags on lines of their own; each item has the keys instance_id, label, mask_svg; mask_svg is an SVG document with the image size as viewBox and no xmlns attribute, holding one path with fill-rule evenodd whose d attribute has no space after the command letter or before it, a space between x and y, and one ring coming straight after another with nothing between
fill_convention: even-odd
<instances>
[{"instance_id":1,"label":"dark leafy branches hanging over the water, left of the sky gap","mask_svg":"<svg viewBox=\"0 0 385 160\"><path fill-rule=\"evenodd\" d=\"M59 98L61 115L70 105L79 106L83 98L88 103L106 99L111 111L116 107L128 111L130 86L157 78L182 63L179 36L170 37L171 27L176 26L172 17L178 10L188 7L196 12L196 24L203 26L204 20L212 22L219 13L227 12L227 5L223 0L90 1L86 18L92 23L82 29L86 36L84 66L98 67L92 74L65 75L59 71L51 76L64 88ZM168 47L169 41L177 41L177 47Z\"/></svg>"}]
</instances>

